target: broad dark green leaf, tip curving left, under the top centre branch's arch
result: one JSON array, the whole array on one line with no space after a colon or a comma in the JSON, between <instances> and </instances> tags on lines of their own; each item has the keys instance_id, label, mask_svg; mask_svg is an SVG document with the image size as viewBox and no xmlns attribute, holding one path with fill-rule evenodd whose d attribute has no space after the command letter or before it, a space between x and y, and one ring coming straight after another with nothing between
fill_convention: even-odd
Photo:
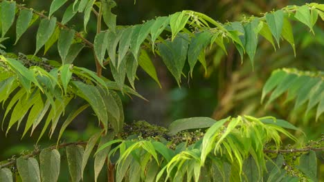
<instances>
[{"instance_id":1,"label":"broad dark green leaf, tip curving left, under the top centre branch's arch","mask_svg":"<svg viewBox=\"0 0 324 182\"><path fill-rule=\"evenodd\" d=\"M197 63L199 54L201 54L201 51L206 48L212 36L213 34L210 34L210 32L205 31L196 34L196 36L191 39L191 43L189 45L188 50L188 63L190 65L191 77L192 70L195 67L195 64Z\"/></svg>"}]
</instances>

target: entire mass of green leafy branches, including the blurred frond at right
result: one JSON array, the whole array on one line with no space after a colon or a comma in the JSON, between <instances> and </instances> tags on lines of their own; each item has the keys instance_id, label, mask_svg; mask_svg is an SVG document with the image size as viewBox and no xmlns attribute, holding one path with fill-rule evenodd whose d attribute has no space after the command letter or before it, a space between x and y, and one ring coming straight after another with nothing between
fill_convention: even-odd
<instances>
[{"instance_id":1,"label":"entire mass of green leafy branches, including the blurred frond at right","mask_svg":"<svg viewBox=\"0 0 324 182\"><path fill-rule=\"evenodd\" d=\"M116 181L317 181L315 151L323 152L323 140L318 142L319 146L290 150L303 154L287 165L285 153L289 150L278 154L282 137L297 141L287 130L298 128L285 120L245 115L219 121L206 117L179 119L169 126L169 130L154 128L156 132L144 134L143 139L141 135L134 135L138 132L129 132L123 127L123 104L117 92L144 99L135 91L138 65L161 87L150 52L161 57L179 86L186 72L192 77L198 61L207 72L205 54L206 50L215 47L214 43L225 54L233 44L242 63L247 54L252 69L259 34L273 45L274 50L280 48L280 40L284 39L296 54L291 21L303 23L314 34L318 17L324 19L323 4L287 6L262 17L228 23L219 23L200 12L183 10L143 24L116 26L116 15L111 12L116 3L110 0L76 0L66 8L62 21L53 14L67 1L54 0L48 16L16 1L0 2L0 102L6 105L2 128L5 125L8 133L13 125L17 124L17 128L24 125L24 137L26 132L31 130L33 134L37 126L44 123L40 139L50 124L49 135L52 136L58 123L63 121L57 145L5 161L0 165L1 181L12 181L12 172L19 174L14 175L16 180L57 181L62 156L67 160L71 180L80 181L94 149L95 181L105 161L110 181L114 181L113 178ZM66 26L77 13L84 16L84 32ZM98 20L93 43L87 35L91 13ZM39 22L33 55L7 52L1 44L7 39L5 36L16 17L15 43L19 43L28 28ZM43 47L46 54L55 42L60 62L37 56ZM96 72L74 65L83 49L92 50ZM102 71L108 70L114 81L102 76ZM125 84L126 78L130 87ZM323 72L276 70L264 85L262 101L273 89L267 104L288 92L286 101L296 98L295 108L308 101L306 113L318 105L316 120L320 120L324 111L322 82ZM64 117L66 107L74 105L76 98L82 99L83 105ZM87 143L60 144L64 130L89 106L98 118L101 131L91 136ZM194 132L194 136L186 134L187 130L197 128L203 131ZM266 145L274 149L267 149ZM270 157L267 153L276 156ZM37 154L39 160L35 158ZM17 166L18 171L10 171L10 165Z\"/></svg>"}]
</instances>

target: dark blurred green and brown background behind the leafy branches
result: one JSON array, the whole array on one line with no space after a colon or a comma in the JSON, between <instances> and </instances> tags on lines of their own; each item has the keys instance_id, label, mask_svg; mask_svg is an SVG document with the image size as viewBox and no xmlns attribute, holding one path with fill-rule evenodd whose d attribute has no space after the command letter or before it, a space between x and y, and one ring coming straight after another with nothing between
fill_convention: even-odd
<instances>
[{"instance_id":1,"label":"dark blurred green and brown background behind the leafy branches","mask_svg":"<svg viewBox=\"0 0 324 182\"><path fill-rule=\"evenodd\" d=\"M50 1L26 0L24 2L28 7L35 10L47 10ZM71 3L72 1L69 1ZM181 10L195 10L203 12L208 16L225 23L226 21L240 21L244 15L260 16L262 12L269 12L287 5L302 5L308 1L233 1L233 0L177 0L177 1L152 1L137 0L122 1L116 0L117 7L113 9L117 14L118 25L133 25L142 23L144 20L153 19L159 16L168 16ZM319 2L319 1L318 1ZM66 3L68 5L69 3ZM319 3L324 3L321 1ZM55 12L58 19L62 19L66 6ZM96 20L93 14L88 24L89 40L93 41L93 35L96 32ZM68 26L82 31L83 17L77 14L74 21ZM170 72L163 65L161 58L154 57L152 60L156 66L158 77L161 81L162 88L159 88L145 72L138 69L138 81L136 81L136 91L143 95L149 101L143 101L136 97L123 97L123 106L125 110L125 121L145 120L157 125L168 126L171 121L185 117L213 117L222 119L227 116L235 117L238 114L250 114L255 117L271 115L280 119L294 123L305 132L296 133L300 142L310 139L318 139L321 132L324 131L323 114L316 122L314 119L314 110L304 116L303 110L291 110L294 103L284 104L284 97L271 103L267 108L260 105L260 96L262 86L271 71L276 68L298 68L300 70L324 70L324 23L318 19L314 36L309 32L306 26L300 23L294 23L294 36L296 44L296 57L291 46L287 42L282 42L280 49L276 52L273 50L271 43L260 38L259 48L255 55L255 69L252 70L249 59L244 57L244 63L241 64L240 55L233 45L228 45L228 55L226 56L219 48L206 50L206 61L208 63L208 72L198 65L194 70L193 79L189 77L182 78L181 88L174 81ZM15 37L15 28L10 29L10 37ZM8 52L23 52L24 54L33 54L35 52L35 32L37 26L30 28L17 45L12 46L15 39L5 42ZM39 52L39 57L42 53ZM48 59L60 60L55 46L48 51ZM89 49L84 49L74 62L75 65L95 70L93 54ZM186 65L188 67L188 65ZM188 68L185 68L185 70ZM111 78L109 70L104 70L105 77ZM66 112L72 110L72 107L78 107L78 103L71 106ZM81 103L80 103L81 104ZM307 106L306 104L304 105ZM0 111L0 119L3 119L3 110ZM62 123L60 123L62 124ZM24 127L21 127L24 128ZM42 126L39 126L42 128ZM89 139L89 136L98 131L98 121L93 116L91 110L86 110L78 116L68 130L64 133L64 141L82 141ZM25 136L21 139L22 131L16 131L12 128L6 136L6 130L0 131L0 161L10 158L12 155L19 155L24 150L33 150L33 145L37 141L39 131L34 132L33 136ZM56 143L57 136L48 139L43 136L39 142L41 148ZM286 141L287 143L291 141ZM66 165L62 165L64 172ZM92 169L92 167L91 167ZM89 170L91 172L93 170ZM65 170L67 172L67 170ZM89 174L91 177L92 174ZM68 175L60 175L62 177ZM102 179L105 176L101 176ZM63 179L61 179L63 180ZM67 179L66 179L67 180ZM64 181L64 180L63 180ZM85 179L87 181L87 179Z\"/></svg>"}]
</instances>

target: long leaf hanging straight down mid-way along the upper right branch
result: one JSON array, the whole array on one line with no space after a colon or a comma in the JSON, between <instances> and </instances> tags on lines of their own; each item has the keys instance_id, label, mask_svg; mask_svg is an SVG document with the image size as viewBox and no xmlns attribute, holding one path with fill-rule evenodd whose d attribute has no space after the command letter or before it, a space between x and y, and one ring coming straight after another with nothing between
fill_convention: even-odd
<instances>
[{"instance_id":1,"label":"long leaf hanging straight down mid-way along the upper right branch","mask_svg":"<svg viewBox=\"0 0 324 182\"><path fill-rule=\"evenodd\" d=\"M254 68L254 55L255 50L258 46L258 32L256 29L258 28L259 19L253 19L250 23L244 25L245 30L245 50L246 53L249 55L251 65Z\"/></svg>"}]
</instances>

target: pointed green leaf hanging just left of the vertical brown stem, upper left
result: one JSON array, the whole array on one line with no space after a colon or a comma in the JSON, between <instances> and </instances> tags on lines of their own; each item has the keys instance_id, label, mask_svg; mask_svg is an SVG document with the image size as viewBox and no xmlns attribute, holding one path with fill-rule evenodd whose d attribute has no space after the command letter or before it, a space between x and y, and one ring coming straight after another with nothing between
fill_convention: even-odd
<instances>
[{"instance_id":1,"label":"pointed green leaf hanging just left of the vertical brown stem, upper left","mask_svg":"<svg viewBox=\"0 0 324 182\"><path fill-rule=\"evenodd\" d=\"M60 37L57 42L57 50L62 59L62 65L65 64L65 59L67 54L69 53L69 49L74 39L75 30L67 30L63 29L60 32Z\"/></svg>"}]
</instances>

